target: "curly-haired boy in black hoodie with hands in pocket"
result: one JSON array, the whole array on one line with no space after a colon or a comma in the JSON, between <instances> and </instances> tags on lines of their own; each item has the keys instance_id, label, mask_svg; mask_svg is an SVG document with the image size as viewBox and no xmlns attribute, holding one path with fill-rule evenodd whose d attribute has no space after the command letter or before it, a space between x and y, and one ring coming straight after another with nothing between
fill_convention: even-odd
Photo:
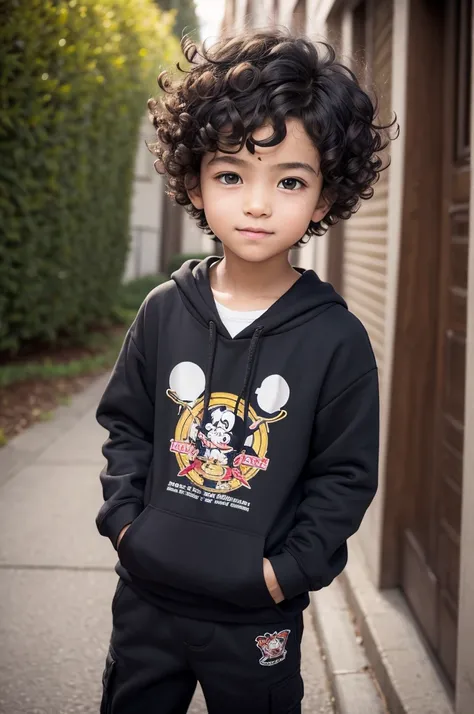
<instances>
[{"instance_id":1,"label":"curly-haired boy in black hoodie with hands in pocket","mask_svg":"<svg viewBox=\"0 0 474 714\"><path fill-rule=\"evenodd\" d=\"M97 410L120 576L101 711L186 712L199 681L211 714L295 714L302 611L346 564L379 427L364 328L288 256L371 196L384 127L328 46L183 49L156 163L224 257L148 295Z\"/></svg>"}]
</instances>

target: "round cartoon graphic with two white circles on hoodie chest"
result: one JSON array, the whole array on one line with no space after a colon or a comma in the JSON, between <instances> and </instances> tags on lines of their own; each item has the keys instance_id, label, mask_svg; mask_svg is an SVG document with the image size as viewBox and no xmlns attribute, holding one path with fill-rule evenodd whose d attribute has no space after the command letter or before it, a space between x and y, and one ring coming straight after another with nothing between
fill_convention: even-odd
<instances>
[{"instance_id":1,"label":"round cartoon graphic with two white circles on hoodie chest","mask_svg":"<svg viewBox=\"0 0 474 714\"><path fill-rule=\"evenodd\" d=\"M211 394L204 414L204 390L205 376L198 365L180 362L174 367L166 393L179 405L170 446L180 467L178 476L186 476L208 491L250 489L251 479L268 468L268 424L287 416L283 406L290 388L280 375L266 377L255 391L258 406L266 415L257 414L249 404L246 424L243 401L226 392Z\"/></svg>"}]
</instances>

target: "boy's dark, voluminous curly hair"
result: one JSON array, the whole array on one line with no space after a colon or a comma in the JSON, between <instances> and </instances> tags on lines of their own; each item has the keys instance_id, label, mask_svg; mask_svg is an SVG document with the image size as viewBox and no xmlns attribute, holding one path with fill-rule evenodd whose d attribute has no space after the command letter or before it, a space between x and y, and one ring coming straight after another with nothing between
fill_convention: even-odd
<instances>
[{"instance_id":1,"label":"boy's dark, voluminous curly hair","mask_svg":"<svg viewBox=\"0 0 474 714\"><path fill-rule=\"evenodd\" d=\"M204 210L187 193L199 181L203 154L274 146L285 138L288 118L303 123L319 151L323 196L331 206L322 221L310 222L305 236L322 235L355 213L360 199L373 196L386 168L378 153L392 138L387 130L396 119L374 123L376 101L336 61L330 45L271 29L221 39L209 49L185 36L181 48L190 68L178 63L184 77L176 81L162 72L164 99L148 102L158 139L149 149L157 156L156 170L167 174L168 195L205 232L213 235ZM273 134L257 141L252 134L266 121Z\"/></svg>"}]
</instances>

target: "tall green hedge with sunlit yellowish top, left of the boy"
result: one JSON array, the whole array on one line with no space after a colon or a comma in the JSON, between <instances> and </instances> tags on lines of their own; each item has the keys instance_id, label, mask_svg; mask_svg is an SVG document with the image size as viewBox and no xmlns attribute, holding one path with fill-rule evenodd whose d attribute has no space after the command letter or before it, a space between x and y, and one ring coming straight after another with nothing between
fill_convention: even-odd
<instances>
[{"instance_id":1,"label":"tall green hedge with sunlit yellowish top, left of the boy","mask_svg":"<svg viewBox=\"0 0 474 714\"><path fill-rule=\"evenodd\" d=\"M172 21L152 0L2 4L0 351L110 314L140 120L178 54Z\"/></svg>"}]
</instances>

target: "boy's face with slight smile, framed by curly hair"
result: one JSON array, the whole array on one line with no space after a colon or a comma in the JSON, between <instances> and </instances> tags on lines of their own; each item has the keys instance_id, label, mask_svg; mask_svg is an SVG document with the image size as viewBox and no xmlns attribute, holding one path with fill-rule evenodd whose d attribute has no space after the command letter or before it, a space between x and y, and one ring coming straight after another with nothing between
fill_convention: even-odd
<instances>
[{"instance_id":1,"label":"boy's face with slight smile, framed by curly hair","mask_svg":"<svg viewBox=\"0 0 474 714\"><path fill-rule=\"evenodd\" d=\"M200 185L189 192L225 248L249 262L288 252L310 221L320 221L329 208L321 199L317 148L299 120L289 119L286 126L284 141L255 146L255 154L246 147L236 154L205 154ZM265 125L254 137L262 140L272 133Z\"/></svg>"}]
</instances>

